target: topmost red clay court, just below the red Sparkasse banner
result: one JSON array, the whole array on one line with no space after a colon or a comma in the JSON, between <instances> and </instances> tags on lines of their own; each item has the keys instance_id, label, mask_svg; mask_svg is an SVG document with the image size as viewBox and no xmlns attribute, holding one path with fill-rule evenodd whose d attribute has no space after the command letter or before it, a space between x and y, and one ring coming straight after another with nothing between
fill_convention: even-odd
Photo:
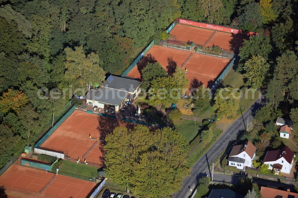
<instances>
[{"instance_id":1,"label":"topmost red clay court, just below the red Sparkasse banner","mask_svg":"<svg viewBox=\"0 0 298 198\"><path fill-rule=\"evenodd\" d=\"M199 45L205 45L205 42L211 37L214 30L204 29L193 26L187 26L183 24L176 24L172 29L170 34L176 37L176 40L180 41L192 41ZM207 47L212 45L218 45L220 48L225 49L225 51L234 51L234 49L239 49L243 43L243 39L248 40L248 36L243 36L239 34L231 34L227 32L216 31L216 34L206 45Z\"/></svg>"}]
</instances>

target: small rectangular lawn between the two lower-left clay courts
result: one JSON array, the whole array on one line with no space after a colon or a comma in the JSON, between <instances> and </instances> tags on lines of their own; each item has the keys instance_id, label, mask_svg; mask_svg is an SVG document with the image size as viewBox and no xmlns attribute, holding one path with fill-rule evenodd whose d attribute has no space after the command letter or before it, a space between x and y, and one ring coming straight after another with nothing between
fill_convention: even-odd
<instances>
[{"instance_id":1,"label":"small rectangular lawn between the two lower-left clay courts","mask_svg":"<svg viewBox=\"0 0 298 198\"><path fill-rule=\"evenodd\" d=\"M59 171L82 175L85 177L91 177L91 172L93 175L97 175L98 167L88 166L85 164L77 164L75 162L63 160L62 164L59 166Z\"/></svg>"}]
</instances>

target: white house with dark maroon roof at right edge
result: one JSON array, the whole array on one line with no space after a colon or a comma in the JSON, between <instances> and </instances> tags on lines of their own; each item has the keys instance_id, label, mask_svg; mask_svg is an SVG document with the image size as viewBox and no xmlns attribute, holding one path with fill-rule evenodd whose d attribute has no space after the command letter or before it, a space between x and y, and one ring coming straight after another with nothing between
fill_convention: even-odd
<instances>
[{"instance_id":1,"label":"white house with dark maroon roof at right edge","mask_svg":"<svg viewBox=\"0 0 298 198\"><path fill-rule=\"evenodd\" d=\"M268 169L274 170L276 174L283 172L290 174L294 164L295 153L287 146L280 150L267 151L264 163L269 167Z\"/></svg>"}]
</instances>

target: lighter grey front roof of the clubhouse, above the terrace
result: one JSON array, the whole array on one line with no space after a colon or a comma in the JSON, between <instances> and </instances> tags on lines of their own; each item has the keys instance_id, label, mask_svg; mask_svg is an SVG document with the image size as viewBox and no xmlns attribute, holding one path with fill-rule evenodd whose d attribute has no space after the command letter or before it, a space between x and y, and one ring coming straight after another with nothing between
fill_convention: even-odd
<instances>
[{"instance_id":1,"label":"lighter grey front roof of the clubhouse, above the terrace","mask_svg":"<svg viewBox=\"0 0 298 198\"><path fill-rule=\"evenodd\" d=\"M128 92L125 91L102 87L99 89L90 89L84 98L100 103L119 105L127 94Z\"/></svg>"}]
</instances>

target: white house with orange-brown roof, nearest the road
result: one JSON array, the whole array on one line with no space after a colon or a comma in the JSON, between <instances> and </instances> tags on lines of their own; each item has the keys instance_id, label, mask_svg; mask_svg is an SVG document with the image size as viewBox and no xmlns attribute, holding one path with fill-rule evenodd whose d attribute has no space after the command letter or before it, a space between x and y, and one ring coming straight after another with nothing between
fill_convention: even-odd
<instances>
[{"instance_id":1,"label":"white house with orange-brown roof, nearest the road","mask_svg":"<svg viewBox=\"0 0 298 198\"><path fill-rule=\"evenodd\" d=\"M255 158L256 150L256 147L250 141L233 146L228 158L228 165L236 166L238 169L252 167L252 160Z\"/></svg>"}]
</instances>

